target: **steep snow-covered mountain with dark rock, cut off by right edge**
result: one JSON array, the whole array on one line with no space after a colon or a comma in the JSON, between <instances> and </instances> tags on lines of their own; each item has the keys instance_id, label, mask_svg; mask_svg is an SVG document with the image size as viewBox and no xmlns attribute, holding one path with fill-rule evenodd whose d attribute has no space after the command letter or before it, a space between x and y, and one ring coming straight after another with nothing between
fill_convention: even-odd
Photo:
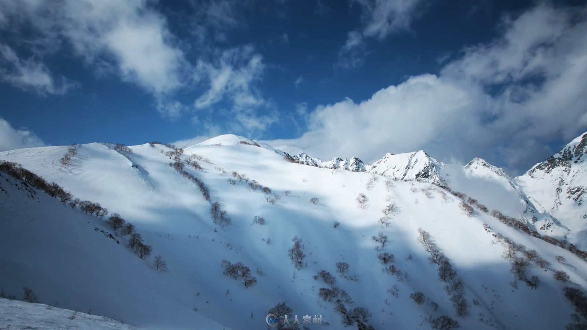
<instances>
[{"instance_id":1,"label":"steep snow-covered mountain with dark rock, cut off by right edge","mask_svg":"<svg viewBox=\"0 0 587 330\"><path fill-rule=\"evenodd\" d=\"M528 197L569 230L569 241L587 247L587 132L516 177Z\"/></svg>"}]
</instances>

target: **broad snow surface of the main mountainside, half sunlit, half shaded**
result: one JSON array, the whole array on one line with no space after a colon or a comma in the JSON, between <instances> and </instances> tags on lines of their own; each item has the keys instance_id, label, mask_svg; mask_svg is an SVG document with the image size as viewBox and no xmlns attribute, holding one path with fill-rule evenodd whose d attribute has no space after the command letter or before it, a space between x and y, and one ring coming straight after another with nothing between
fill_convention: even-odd
<instances>
[{"instance_id":1,"label":"broad snow surface of the main mountainside, half sunlit, half shaded","mask_svg":"<svg viewBox=\"0 0 587 330\"><path fill-rule=\"evenodd\" d=\"M103 144L85 144L65 168L59 159L67 147L0 153L0 160L21 163L75 197L119 213L153 246L151 257L141 260L124 246L127 237L117 236L116 244L94 230L112 232L104 220L42 193L28 198L2 174L0 184L7 193L0 191L0 287L8 294L31 287L41 302L59 301L60 307L80 311L92 308L140 328L218 329L222 324L227 329L262 329L269 309L286 301L300 321L304 315L322 315L323 323L341 329L333 309L336 299L319 297L320 288L329 285L313 278L326 270L336 275L335 286L352 297L346 307L369 309L368 323L375 329L430 328L430 318L440 315L456 319L464 329L561 329L571 322L573 307L562 288L585 288L587 264L569 251L483 212L469 217L461 211L460 199L432 184L393 181L389 186L384 177L375 176L367 190L374 180L370 173L289 163L279 150L241 144L242 139L220 136L185 149L181 156L183 162L194 154L211 161L199 162L202 171L184 167L209 188L210 201L168 165L173 160L165 153L173 150L160 144L130 147L133 153L127 155ZM243 180L229 183L232 171L271 193L253 191ZM359 193L368 198L365 208L357 207ZM316 204L310 203L312 197L319 199ZM214 202L222 204L230 224L212 223ZM396 210L382 224L382 209L389 204ZM264 217L265 224L253 224L255 216ZM335 221L340 223L336 228ZM438 265L429 261L429 252L417 240L418 228L430 233L462 278L467 315L456 315L443 288L447 282L438 280ZM375 250L381 245L372 239L379 233L387 235L381 252L394 255L385 265ZM511 260L502 257L504 247L496 242L496 233L550 262L545 269L532 262L525 271L526 278L539 278L537 289L523 281L512 287ZM288 257L294 237L301 239L306 255L300 270ZM167 261L167 273L154 270L154 255ZM556 255L566 261L557 262ZM247 265L257 284L245 288L241 280L223 275L222 260ZM348 262L347 278L337 274L336 262ZM394 274L382 271L390 265ZM556 281L556 270L567 272L575 284ZM354 276L356 281L348 279ZM422 304L410 299L417 291L426 297Z\"/></svg>"}]
</instances>

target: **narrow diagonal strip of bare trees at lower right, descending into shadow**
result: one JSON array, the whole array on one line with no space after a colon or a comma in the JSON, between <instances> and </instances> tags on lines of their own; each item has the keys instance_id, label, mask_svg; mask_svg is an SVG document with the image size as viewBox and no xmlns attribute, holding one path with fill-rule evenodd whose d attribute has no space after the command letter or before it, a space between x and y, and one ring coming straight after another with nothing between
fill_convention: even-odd
<instances>
[{"instance_id":1,"label":"narrow diagonal strip of bare trees at lower right, descending into shadow","mask_svg":"<svg viewBox=\"0 0 587 330\"><path fill-rule=\"evenodd\" d=\"M453 270L450 260L438 250L436 243L433 242L432 237L427 231L418 229L418 241L424 246L426 252L429 252L428 260L438 265L438 280L447 282L444 286L444 291L451 295L450 300L453 302L453 307L458 316L465 316L468 314L468 302L465 298L464 283L461 278L457 277L457 272Z\"/></svg>"}]
</instances>

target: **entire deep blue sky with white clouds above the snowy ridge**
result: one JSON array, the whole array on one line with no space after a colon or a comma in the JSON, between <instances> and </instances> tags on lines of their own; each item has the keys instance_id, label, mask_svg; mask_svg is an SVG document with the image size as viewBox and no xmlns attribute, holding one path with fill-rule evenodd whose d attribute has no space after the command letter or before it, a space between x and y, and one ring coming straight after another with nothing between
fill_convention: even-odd
<instances>
[{"instance_id":1,"label":"entire deep blue sky with white clouds above the snowy ridge","mask_svg":"<svg viewBox=\"0 0 587 330\"><path fill-rule=\"evenodd\" d=\"M514 174L587 130L585 1L0 0L0 149L419 149Z\"/></svg>"}]
</instances>

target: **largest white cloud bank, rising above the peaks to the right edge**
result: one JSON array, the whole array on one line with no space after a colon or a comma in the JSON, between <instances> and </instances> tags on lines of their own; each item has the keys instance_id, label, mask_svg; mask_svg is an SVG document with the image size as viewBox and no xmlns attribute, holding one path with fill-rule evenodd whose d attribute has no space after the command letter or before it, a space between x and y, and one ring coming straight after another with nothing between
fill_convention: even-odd
<instances>
[{"instance_id":1,"label":"largest white cloud bank, rising above the peaks to the right edge","mask_svg":"<svg viewBox=\"0 0 587 330\"><path fill-rule=\"evenodd\" d=\"M586 8L538 5L506 18L501 36L465 48L440 75L410 77L363 102L318 106L308 132L276 144L325 159L372 162L386 151L425 149L528 169L551 153L545 143L586 130Z\"/></svg>"}]
</instances>

